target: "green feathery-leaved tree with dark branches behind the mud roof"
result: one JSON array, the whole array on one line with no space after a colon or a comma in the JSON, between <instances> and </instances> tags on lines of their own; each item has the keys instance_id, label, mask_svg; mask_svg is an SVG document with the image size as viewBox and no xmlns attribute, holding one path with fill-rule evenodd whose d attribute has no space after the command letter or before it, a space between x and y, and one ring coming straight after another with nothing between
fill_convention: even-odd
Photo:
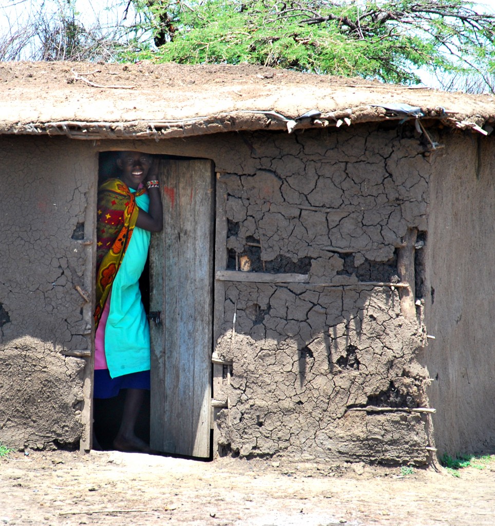
<instances>
[{"instance_id":1,"label":"green feathery-leaved tree with dark branches behind the mud roof","mask_svg":"<svg viewBox=\"0 0 495 526\"><path fill-rule=\"evenodd\" d=\"M154 39L124 59L264 64L418 83L417 70L472 74L492 87L495 16L451 0L127 0ZM137 41L135 41L136 44Z\"/></svg>"}]
</instances>

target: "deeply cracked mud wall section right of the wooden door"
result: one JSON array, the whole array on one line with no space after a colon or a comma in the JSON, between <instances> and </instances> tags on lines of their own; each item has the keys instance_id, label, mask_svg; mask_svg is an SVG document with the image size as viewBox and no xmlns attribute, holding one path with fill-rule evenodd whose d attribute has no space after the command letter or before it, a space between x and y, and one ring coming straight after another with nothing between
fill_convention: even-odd
<instances>
[{"instance_id":1,"label":"deeply cracked mud wall section right of the wooden door","mask_svg":"<svg viewBox=\"0 0 495 526\"><path fill-rule=\"evenodd\" d=\"M427 418L411 411L428 403L421 307L403 315L391 286L408 229L427 230L418 139L356 127L244 140L249 164L217 186L220 454L426 463Z\"/></svg>"}]
</instances>

